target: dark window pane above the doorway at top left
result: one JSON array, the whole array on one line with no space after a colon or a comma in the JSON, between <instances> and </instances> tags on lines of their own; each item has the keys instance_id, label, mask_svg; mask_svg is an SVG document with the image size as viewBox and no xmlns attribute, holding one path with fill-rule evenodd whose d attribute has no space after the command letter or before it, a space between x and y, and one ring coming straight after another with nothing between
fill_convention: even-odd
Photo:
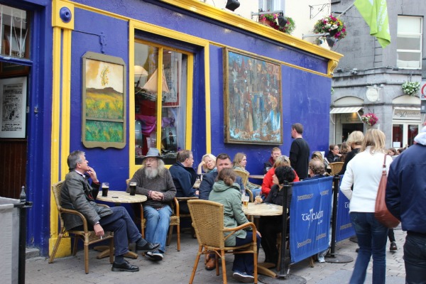
<instances>
[{"instance_id":1,"label":"dark window pane above the doorway at top left","mask_svg":"<svg viewBox=\"0 0 426 284\"><path fill-rule=\"evenodd\" d=\"M2 55L28 58L28 13L0 4L0 50Z\"/></svg>"}]
</instances>

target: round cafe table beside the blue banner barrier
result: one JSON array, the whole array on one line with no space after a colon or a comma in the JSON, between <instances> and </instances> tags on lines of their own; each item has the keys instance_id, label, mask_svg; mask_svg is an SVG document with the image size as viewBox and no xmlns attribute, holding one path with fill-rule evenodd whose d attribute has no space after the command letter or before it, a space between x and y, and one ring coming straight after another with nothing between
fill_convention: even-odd
<instances>
[{"instance_id":1,"label":"round cafe table beside the blue banner barrier","mask_svg":"<svg viewBox=\"0 0 426 284\"><path fill-rule=\"evenodd\" d=\"M283 207L275 204L254 204L254 202L249 202L248 208L243 206L243 212L250 216L280 216L283 214ZM277 278L277 274L268 269L271 266L273 266L271 263L258 263L258 273Z\"/></svg>"}]
</instances>

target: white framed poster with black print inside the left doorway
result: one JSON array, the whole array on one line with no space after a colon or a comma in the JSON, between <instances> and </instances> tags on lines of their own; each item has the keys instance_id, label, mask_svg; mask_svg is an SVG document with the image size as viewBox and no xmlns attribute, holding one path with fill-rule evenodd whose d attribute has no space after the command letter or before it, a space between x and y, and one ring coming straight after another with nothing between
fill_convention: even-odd
<instances>
[{"instance_id":1,"label":"white framed poster with black print inside the left doorway","mask_svg":"<svg viewBox=\"0 0 426 284\"><path fill-rule=\"evenodd\" d=\"M0 138L26 137L27 77L0 80Z\"/></svg>"}]
</instances>

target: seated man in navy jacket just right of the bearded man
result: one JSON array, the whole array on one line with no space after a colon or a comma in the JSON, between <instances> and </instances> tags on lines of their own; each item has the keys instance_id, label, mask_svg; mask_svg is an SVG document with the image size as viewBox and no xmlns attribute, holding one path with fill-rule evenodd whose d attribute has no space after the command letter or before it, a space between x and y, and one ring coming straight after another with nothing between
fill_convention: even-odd
<instances>
[{"instance_id":1,"label":"seated man in navy jacket just right of the bearded man","mask_svg":"<svg viewBox=\"0 0 426 284\"><path fill-rule=\"evenodd\" d=\"M172 175L176 187L176 197L195 197L198 195L198 190L192 188L192 185L197 180L197 173L192 168L192 164L194 164L192 152L179 151L176 160L175 165L170 167L170 175ZM180 203L180 212L190 212L186 202Z\"/></svg>"}]
</instances>

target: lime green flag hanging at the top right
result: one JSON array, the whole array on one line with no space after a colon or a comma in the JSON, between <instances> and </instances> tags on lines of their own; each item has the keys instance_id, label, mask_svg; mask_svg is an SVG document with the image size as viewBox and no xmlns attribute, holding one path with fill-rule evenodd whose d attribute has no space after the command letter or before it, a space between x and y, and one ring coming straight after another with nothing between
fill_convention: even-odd
<instances>
[{"instance_id":1,"label":"lime green flag hanging at the top right","mask_svg":"<svg viewBox=\"0 0 426 284\"><path fill-rule=\"evenodd\" d=\"M356 9L370 26L370 35L377 38L382 48L391 43L386 0L356 0Z\"/></svg>"}]
</instances>

